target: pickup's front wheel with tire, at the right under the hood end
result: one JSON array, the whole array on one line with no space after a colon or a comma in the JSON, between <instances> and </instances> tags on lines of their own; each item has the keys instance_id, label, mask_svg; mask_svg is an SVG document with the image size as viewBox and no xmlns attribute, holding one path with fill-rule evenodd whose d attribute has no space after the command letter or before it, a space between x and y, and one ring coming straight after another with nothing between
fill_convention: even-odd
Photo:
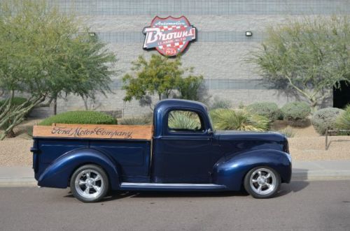
<instances>
[{"instance_id":1,"label":"pickup's front wheel with tire, at the right under the hood end","mask_svg":"<svg viewBox=\"0 0 350 231\"><path fill-rule=\"evenodd\" d=\"M244 188L254 198L271 198L279 186L281 177L270 167L254 167L244 178Z\"/></svg>"}]
</instances>

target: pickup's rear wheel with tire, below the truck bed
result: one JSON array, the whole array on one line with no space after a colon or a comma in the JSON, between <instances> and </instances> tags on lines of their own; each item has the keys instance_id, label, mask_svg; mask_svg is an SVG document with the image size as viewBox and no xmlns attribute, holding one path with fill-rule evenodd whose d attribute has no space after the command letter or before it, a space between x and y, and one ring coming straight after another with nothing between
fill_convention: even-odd
<instances>
[{"instance_id":1,"label":"pickup's rear wheel with tire, below the truck bed","mask_svg":"<svg viewBox=\"0 0 350 231\"><path fill-rule=\"evenodd\" d=\"M98 202L109 191L106 172L97 165L83 165L71 177L71 193L82 202Z\"/></svg>"}]
</instances>

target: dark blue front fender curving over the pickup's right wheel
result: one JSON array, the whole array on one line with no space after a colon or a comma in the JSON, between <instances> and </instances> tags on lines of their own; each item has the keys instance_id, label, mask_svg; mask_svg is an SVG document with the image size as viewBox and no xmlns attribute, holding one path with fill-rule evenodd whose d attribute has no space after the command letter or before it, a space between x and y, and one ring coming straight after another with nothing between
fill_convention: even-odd
<instances>
[{"instance_id":1,"label":"dark blue front fender curving over the pickup's right wheel","mask_svg":"<svg viewBox=\"0 0 350 231\"><path fill-rule=\"evenodd\" d=\"M213 170L214 184L225 185L229 190L239 191L246 173L253 167L271 167L281 175L282 183L289 183L292 164L289 154L273 149L246 151L221 158Z\"/></svg>"}]
</instances>

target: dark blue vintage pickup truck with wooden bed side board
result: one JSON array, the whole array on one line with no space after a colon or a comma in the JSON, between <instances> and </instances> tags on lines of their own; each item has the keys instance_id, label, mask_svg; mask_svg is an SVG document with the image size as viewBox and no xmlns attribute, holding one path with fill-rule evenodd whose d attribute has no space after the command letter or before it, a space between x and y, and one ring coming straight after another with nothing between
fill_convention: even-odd
<instances>
[{"instance_id":1,"label":"dark blue vintage pickup truck with wooden bed side board","mask_svg":"<svg viewBox=\"0 0 350 231\"><path fill-rule=\"evenodd\" d=\"M197 121L174 123L176 113ZM214 131L207 107L162 100L153 126L34 126L38 186L70 187L83 202L113 191L240 191L270 198L289 183L291 159L279 133Z\"/></svg>"}]
</instances>

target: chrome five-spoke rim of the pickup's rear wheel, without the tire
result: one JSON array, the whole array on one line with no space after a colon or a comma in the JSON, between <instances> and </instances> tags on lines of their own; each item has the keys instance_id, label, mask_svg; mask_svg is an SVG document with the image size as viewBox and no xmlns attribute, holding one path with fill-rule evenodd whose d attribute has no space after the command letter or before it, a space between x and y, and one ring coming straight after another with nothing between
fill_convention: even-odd
<instances>
[{"instance_id":1,"label":"chrome five-spoke rim of the pickup's rear wheel, without the tire","mask_svg":"<svg viewBox=\"0 0 350 231\"><path fill-rule=\"evenodd\" d=\"M104 188L101 175L94 170L83 170L76 177L76 191L84 198L97 198Z\"/></svg>"}]
</instances>

